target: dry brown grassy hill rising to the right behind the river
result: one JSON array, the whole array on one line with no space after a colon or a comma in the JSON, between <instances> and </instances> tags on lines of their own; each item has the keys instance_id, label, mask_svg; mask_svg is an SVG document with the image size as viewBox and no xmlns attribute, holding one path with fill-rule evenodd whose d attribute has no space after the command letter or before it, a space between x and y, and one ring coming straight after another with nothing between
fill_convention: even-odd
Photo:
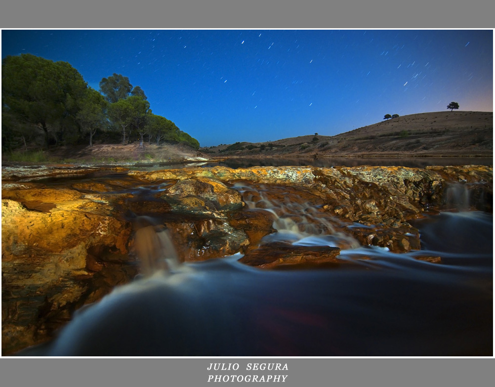
<instances>
[{"instance_id":1,"label":"dry brown grassy hill rising to the right behind the river","mask_svg":"<svg viewBox=\"0 0 495 387\"><path fill-rule=\"evenodd\" d=\"M225 157L493 156L493 112L438 111L391 118L335 136L200 148Z\"/></svg>"}]
</instances>

